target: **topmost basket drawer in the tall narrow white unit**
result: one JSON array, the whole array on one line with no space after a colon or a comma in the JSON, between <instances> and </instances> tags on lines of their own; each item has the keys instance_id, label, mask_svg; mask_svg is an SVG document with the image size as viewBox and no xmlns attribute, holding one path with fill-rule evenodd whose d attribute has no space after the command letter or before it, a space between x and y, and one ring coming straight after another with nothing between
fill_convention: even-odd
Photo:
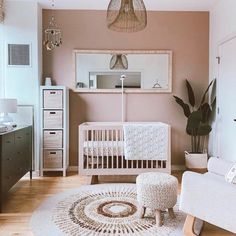
<instances>
[{"instance_id":1,"label":"topmost basket drawer in the tall narrow white unit","mask_svg":"<svg viewBox=\"0 0 236 236\"><path fill-rule=\"evenodd\" d=\"M43 107L46 109L63 108L63 91L62 90L44 90L43 91Z\"/></svg>"}]
</instances>

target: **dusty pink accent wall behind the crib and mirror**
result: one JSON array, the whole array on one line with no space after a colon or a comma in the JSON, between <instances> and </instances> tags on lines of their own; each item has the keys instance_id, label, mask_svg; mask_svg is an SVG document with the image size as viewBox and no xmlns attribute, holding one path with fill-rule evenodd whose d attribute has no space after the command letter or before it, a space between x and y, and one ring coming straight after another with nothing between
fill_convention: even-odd
<instances>
[{"instance_id":1,"label":"dusty pink accent wall behind the crib and mirror","mask_svg":"<svg viewBox=\"0 0 236 236\"><path fill-rule=\"evenodd\" d=\"M43 71L58 85L74 88L73 49L170 49L173 51L173 94L186 97L184 80L202 91L209 74L209 13L148 12L147 28L138 33L117 33L106 28L105 11L54 11L63 31L63 45L44 50ZM50 10L43 11L44 28ZM173 94L129 94L127 121L162 121L172 126L172 162L184 163L190 147L186 119ZM77 127L84 121L120 121L119 94L70 92L70 165L77 165Z\"/></svg>"}]
</instances>

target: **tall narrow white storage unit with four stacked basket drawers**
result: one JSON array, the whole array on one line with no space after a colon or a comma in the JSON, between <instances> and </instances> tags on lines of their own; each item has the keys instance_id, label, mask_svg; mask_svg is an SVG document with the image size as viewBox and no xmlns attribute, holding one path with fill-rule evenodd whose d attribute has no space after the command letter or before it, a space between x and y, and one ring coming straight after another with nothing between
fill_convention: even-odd
<instances>
[{"instance_id":1,"label":"tall narrow white storage unit with four stacked basket drawers","mask_svg":"<svg viewBox=\"0 0 236 236\"><path fill-rule=\"evenodd\" d=\"M41 86L41 175L69 165L69 90Z\"/></svg>"}]
</instances>

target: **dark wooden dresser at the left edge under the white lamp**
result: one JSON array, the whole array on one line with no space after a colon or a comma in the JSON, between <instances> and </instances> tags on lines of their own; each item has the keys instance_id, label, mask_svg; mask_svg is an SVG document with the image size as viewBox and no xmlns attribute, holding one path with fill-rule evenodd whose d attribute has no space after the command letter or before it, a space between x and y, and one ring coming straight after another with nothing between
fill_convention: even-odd
<instances>
[{"instance_id":1,"label":"dark wooden dresser at the left edge under the white lamp","mask_svg":"<svg viewBox=\"0 0 236 236\"><path fill-rule=\"evenodd\" d=\"M0 134L0 212L10 188L28 171L32 179L32 127Z\"/></svg>"}]
</instances>

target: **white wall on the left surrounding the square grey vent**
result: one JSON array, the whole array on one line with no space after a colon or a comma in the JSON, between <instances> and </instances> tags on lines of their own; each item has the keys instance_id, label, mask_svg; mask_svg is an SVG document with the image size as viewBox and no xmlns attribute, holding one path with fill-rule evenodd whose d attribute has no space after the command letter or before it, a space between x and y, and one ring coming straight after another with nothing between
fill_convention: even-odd
<instances>
[{"instance_id":1,"label":"white wall on the left surrounding the square grey vent","mask_svg":"<svg viewBox=\"0 0 236 236\"><path fill-rule=\"evenodd\" d=\"M35 106L35 124L39 124L39 85L42 74L42 10L36 2L7 1L3 30L3 80L5 97L17 98L19 104ZM7 44L30 44L31 66L7 66ZM38 131L35 127L36 158Z\"/></svg>"}]
</instances>

